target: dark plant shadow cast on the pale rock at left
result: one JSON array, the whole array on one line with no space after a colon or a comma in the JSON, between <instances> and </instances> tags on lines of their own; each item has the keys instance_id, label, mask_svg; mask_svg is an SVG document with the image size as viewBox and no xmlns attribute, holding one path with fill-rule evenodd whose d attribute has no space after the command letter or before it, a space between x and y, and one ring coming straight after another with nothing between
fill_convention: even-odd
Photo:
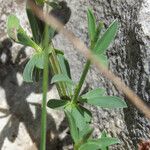
<instances>
[{"instance_id":1,"label":"dark plant shadow cast on the pale rock at left","mask_svg":"<svg viewBox=\"0 0 150 150\"><path fill-rule=\"evenodd\" d=\"M40 141L40 117L41 117L41 106L35 107L35 114L33 116L30 104L27 102L27 97L31 93L36 93L37 86L36 83L23 83L18 84L17 73L22 73L23 68L27 61L20 63L25 57L24 48L22 48L16 61L13 63L11 56L11 46L10 40L5 39L1 42L0 46L0 86L5 90L6 103L9 110L0 109L6 116L11 116L4 126L0 134L0 149L2 149L5 138L9 141L14 142L18 135L19 124L22 122L31 137L32 141L39 147ZM51 87L49 87L49 90ZM37 100L35 99L35 102ZM47 149L56 149L58 138L55 121L51 115L47 116L47 135L49 139L47 140ZM49 132L49 133L48 133ZM53 132L53 137L51 139L50 135Z\"/></svg>"}]
</instances>

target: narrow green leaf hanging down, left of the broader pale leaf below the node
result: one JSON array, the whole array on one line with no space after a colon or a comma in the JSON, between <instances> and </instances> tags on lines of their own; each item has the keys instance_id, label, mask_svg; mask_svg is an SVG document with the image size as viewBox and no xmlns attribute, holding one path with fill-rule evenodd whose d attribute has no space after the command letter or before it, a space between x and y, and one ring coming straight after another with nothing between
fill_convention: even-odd
<instances>
[{"instance_id":1,"label":"narrow green leaf hanging down, left of the broader pale leaf below the node","mask_svg":"<svg viewBox=\"0 0 150 150\"><path fill-rule=\"evenodd\" d=\"M69 129L70 129L71 137L72 137L74 143L76 143L79 139L79 135L78 135L78 129L76 127L74 117L67 110L65 110L65 115L69 122Z\"/></svg>"}]
</instances>

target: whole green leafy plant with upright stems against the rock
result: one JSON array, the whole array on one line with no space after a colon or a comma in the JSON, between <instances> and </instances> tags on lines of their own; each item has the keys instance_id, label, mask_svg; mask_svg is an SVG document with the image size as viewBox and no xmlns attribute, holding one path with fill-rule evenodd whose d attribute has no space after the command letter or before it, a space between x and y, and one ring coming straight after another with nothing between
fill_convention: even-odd
<instances>
[{"instance_id":1,"label":"whole green leafy plant with upright stems against the rock","mask_svg":"<svg viewBox=\"0 0 150 150\"><path fill-rule=\"evenodd\" d=\"M46 12L59 5L58 2L44 2L35 0L36 5L43 8L46 5ZM116 96L106 96L102 88L93 89L81 94L86 75L91 65L87 60L78 83L71 78L69 63L61 50L54 48L52 39L55 29L48 26L34 15L27 3L27 15L30 22L32 37L29 37L20 26L19 19L10 15L7 21L8 35L15 42L30 46L35 53L25 66L23 78L26 82L38 81L43 73L43 101L41 121L41 150L46 149L46 101L48 90L48 72L52 72L51 84L56 84L60 99L51 99L47 106L53 109L64 111L68 120L74 150L107 150L108 146L119 143L117 138L108 137L105 132L97 139L92 138L93 128L91 127L92 114L84 104L99 106L102 108L125 108L124 100ZM96 19L92 10L87 11L88 33L90 38L90 49L92 53L107 67L106 50L113 41L117 30L118 22L114 20L104 31L102 22L96 25Z\"/></svg>"}]
</instances>

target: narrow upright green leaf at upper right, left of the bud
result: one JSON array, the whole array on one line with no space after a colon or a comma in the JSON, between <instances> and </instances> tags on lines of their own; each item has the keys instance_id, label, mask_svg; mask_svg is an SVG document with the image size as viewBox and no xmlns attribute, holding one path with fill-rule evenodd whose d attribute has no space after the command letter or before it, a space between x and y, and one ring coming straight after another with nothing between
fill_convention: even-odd
<instances>
[{"instance_id":1,"label":"narrow upright green leaf at upper right, left of the bud","mask_svg":"<svg viewBox=\"0 0 150 150\"><path fill-rule=\"evenodd\" d=\"M96 32L96 20L92 10L90 9L88 9L87 11L87 18L88 18L88 33L92 43L94 41Z\"/></svg>"}]
</instances>

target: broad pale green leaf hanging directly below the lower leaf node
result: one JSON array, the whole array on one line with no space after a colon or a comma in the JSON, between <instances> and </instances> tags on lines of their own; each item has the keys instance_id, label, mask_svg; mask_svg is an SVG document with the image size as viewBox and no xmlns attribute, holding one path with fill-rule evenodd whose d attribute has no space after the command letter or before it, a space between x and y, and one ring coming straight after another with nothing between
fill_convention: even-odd
<instances>
[{"instance_id":1,"label":"broad pale green leaf hanging directly below the lower leaf node","mask_svg":"<svg viewBox=\"0 0 150 150\"><path fill-rule=\"evenodd\" d=\"M75 120L76 126L82 131L86 127L86 121L82 112L77 107L72 107L71 114Z\"/></svg>"}]
</instances>

